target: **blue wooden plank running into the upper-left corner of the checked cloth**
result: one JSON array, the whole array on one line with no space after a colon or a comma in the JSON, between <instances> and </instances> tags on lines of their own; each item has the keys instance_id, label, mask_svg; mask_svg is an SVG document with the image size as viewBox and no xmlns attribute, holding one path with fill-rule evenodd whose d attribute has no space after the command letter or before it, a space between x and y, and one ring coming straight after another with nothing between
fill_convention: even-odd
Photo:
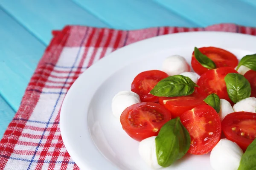
<instances>
[{"instance_id":1,"label":"blue wooden plank running into the upper-left corner of the checked cloth","mask_svg":"<svg viewBox=\"0 0 256 170\"><path fill-rule=\"evenodd\" d=\"M44 44L51 40L52 30L66 25L108 27L70 0L0 0L0 4Z\"/></svg>"}]
</instances>

